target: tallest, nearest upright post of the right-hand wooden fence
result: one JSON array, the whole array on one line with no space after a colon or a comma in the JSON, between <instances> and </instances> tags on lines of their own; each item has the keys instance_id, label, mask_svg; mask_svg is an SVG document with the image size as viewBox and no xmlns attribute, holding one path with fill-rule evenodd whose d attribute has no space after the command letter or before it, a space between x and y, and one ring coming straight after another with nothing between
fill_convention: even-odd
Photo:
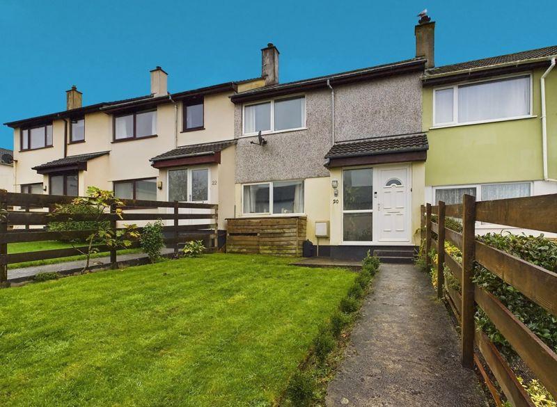
<instances>
[{"instance_id":1,"label":"tallest, nearest upright post of the right-hand wooden fence","mask_svg":"<svg viewBox=\"0 0 557 407\"><path fill-rule=\"evenodd\" d=\"M476 198L462 200L462 366L472 369L474 357L474 258L476 257Z\"/></svg>"}]
</instances>

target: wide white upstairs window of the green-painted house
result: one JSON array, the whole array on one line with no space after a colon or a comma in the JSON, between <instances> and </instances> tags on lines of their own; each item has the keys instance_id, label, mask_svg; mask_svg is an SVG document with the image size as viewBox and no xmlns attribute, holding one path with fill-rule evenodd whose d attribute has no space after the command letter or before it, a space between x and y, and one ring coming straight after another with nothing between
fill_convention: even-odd
<instances>
[{"instance_id":1,"label":"wide white upstairs window of the green-painted house","mask_svg":"<svg viewBox=\"0 0 557 407\"><path fill-rule=\"evenodd\" d=\"M433 90L434 127L512 120L531 115L531 74Z\"/></svg>"}]
</instances>

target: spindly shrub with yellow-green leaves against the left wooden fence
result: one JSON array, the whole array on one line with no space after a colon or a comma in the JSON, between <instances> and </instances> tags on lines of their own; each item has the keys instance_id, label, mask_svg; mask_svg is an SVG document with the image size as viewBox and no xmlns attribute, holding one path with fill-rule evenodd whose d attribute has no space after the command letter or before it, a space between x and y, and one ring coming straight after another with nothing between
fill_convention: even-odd
<instances>
[{"instance_id":1,"label":"spindly shrub with yellow-green leaves against the left wooden fence","mask_svg":"<svg viewBox=\"0 0 557 407\"><path fill-rule=\"evenodd\" d=\"M114 214L120 219L123 218L123 210L118 208L118 206L123 206L123 202L114 198L112 191L104 191L96 186L89 186L87 189L87 196L74 198L74 200L72 200L72 205L80 208L76 210L84 212L90 211L89 214L93 215L93 219L88 221L92 228L90 229L91 234L85 239L87 244L86 249L84 250L76 247L75 245L78 243L77 240L74 239L71 241L73 248L86 257L86 263L82 272L89 269L91 255L99 252L99 248L94 247L94 245L102 244L112 249L127 248L132 246L132 240L139 238L139 233L136 232L136 225L126 225L123 229L113 230L110 227L110 223L107 223L104 218L104 215L109 212L111 205L116 207ZM56 205L50 216L55 220L56 216L65 213L65 206L66 205ZM68 222L72 223L73 221L70 218Z\"/></svg>"}]
</instances>

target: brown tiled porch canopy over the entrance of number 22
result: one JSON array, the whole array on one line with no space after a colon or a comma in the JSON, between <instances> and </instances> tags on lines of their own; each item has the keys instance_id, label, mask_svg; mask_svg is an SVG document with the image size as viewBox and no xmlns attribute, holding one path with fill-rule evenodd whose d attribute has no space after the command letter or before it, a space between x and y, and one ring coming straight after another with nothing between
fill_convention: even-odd
<instances>
[{"instance_id":1,"label":"brown tiled porch canopy over the entrance of number 22","mask_svg":"<svg viewBox=\"0 0 557 407\"><path fill-rule=\"evenodd\" d=\"M157 155L150 159L151 166L155 168L168 168L175 166L191 166L194 164L221 163L221 151L236 140L217 141L214 143L201 143L185 145Z\"/></svg>"}]
</instances>

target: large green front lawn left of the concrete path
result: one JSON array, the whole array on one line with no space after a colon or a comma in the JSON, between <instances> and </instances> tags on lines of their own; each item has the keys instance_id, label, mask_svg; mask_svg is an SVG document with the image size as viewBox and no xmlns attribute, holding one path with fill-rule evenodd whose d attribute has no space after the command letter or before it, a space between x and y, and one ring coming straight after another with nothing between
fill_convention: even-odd
<instances>
[{"instance_id":1,"label":"large green front lawn left of the concrete path","mask_svg":"<svg viewBox=\"0 0 557 407\"><path fill-rule=\"evenodd\" d=\"M356 273L204 255L0 291L0 406L267 406Z\"/></svg>"}]
</instances>

